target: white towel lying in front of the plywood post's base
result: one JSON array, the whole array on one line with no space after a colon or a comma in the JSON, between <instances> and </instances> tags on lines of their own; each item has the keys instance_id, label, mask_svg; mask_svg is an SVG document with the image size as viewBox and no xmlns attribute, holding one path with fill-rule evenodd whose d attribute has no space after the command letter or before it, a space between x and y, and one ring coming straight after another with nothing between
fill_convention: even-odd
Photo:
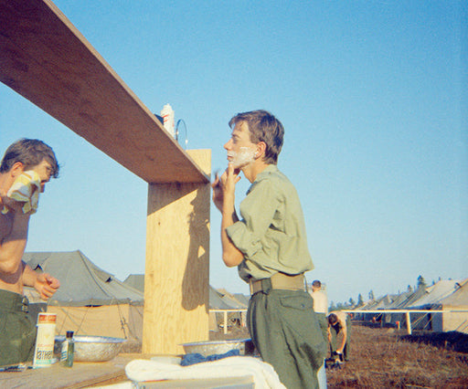
<instances>
[{"instance_id":1,"label":"white towel lying in front of the plywood post's base","mask_svg":"<svg viewBox=\"0 0 468 389\"><path fill-rule=\"evenodd\" d=\"M190 366L134 360L127 363L125 373L133 382L251 376L255 387L286 389L271 364L248 356L233 356Z\"/></svg>"}]
</instances>

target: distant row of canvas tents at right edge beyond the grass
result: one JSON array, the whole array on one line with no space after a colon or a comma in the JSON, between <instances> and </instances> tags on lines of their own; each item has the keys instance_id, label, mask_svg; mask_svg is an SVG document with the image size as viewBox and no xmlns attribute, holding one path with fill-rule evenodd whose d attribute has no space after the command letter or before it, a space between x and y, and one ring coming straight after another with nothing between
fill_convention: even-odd
<instances>
[{"instance_id":1,"label":"distant row of canvas tents at right edge beyond the grass","mask_svg":"<svg viewBox=\"0 0 468 389\"><path fill-rule=\"evenodd\" d=\"M380 321L392 326L407 324L405 312L393 313L392 310L408 310L412 329L468 333L468 279L443 279L429 287L387 294L377 300L369 300L355 310L356 319ZM366 310L372 312L366 313ZM378 313L380 310L382 313Z\"/></svg>"}]
</instances>

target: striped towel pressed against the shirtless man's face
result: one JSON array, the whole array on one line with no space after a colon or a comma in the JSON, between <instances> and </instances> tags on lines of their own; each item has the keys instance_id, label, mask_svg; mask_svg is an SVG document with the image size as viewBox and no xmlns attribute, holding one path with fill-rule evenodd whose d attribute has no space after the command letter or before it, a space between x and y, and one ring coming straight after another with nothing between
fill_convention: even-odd
<instances>
[{"instance_id":1,"label":"striped towel pressed against the shirtless man's face","mask_svg":"<svg viewBox=\"0 0 468 389\"><path fill-rule=\"evenodd\" d=\"M11 185L11 188L6 195L13 200L24 203L24 214L27 214L28 212L34 214L37 211L37 205L39 205L39 193L39 174L34 170L28 170L16 178L15 183ZM8 208L4 206L2 214L6 214L7 212Z\"/></svg>"}]
</instances>

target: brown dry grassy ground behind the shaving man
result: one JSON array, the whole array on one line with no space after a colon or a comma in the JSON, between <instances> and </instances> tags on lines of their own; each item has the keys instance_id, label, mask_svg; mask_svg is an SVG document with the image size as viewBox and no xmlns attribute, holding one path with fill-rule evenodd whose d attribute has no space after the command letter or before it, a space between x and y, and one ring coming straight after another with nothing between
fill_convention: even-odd
<instances>
[{"instance_id":1,"label":"brown dry grassy ground behind the shaving man","mask_svg":"<svg viewBox=\"0 0 468 389\"><path fill-rule=\"evenodd\" d=\"M468 335L413 333L354 322L350 361L326 369L328 388L468 388ZM248 338L246 329L211 340Z\"/></svg>"}]
</instances>

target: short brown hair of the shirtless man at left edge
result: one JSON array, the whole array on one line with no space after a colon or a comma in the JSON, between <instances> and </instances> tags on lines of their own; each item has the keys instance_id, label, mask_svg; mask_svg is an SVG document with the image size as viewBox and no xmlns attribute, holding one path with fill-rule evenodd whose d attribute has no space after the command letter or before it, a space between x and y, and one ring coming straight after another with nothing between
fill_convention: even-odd
<instances>
[{"instance_id":1,"label":"short brown hair of the shirtless man at left edge","mask_svg":"<svg viewBox=\"0 0 468 389\"><path fill-rule=\"evenodd\" d=\"M46 160L52 167L51 177L58 177L58 162L55 152L46 143L38 139L20 139L12 143L5 152L2 163L0 163L0 173L8 172L15 163L20 162L25 165L25 169L33 168Z\"/></svg>"}]
</instances>

